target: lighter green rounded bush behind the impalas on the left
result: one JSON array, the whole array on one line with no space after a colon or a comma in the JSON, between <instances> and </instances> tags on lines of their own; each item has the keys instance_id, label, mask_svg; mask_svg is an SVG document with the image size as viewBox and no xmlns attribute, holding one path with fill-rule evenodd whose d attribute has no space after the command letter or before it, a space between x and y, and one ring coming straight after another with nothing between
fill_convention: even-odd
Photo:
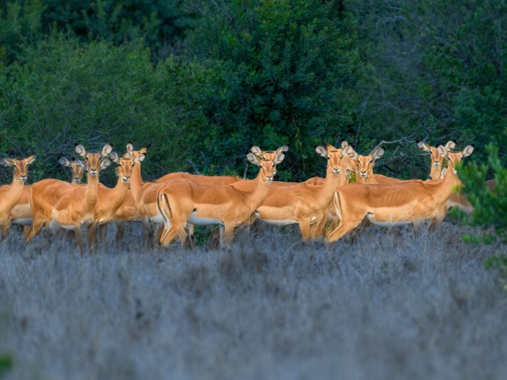
<instances>
[{"instance_id":1,"label":"lighter green rounded bush behind the impalas on the left","mask_svg":"<svg viewBox=\"0 0 507 380\"><path fill-rule=\"evenodd\" d=\"M153 67L140 41L81 48L61 35L25 47L22 56L21 62L0 67L0 155L38 153L32 181L67 179L56 157L75 155L76 141L89 149L113 142L121 153L129 140L137 146L153 142L150 160L143 164L148 178L188 166L176 148L184 145L184 134L177 124L173 83L192 88L183 82L195 65L176 69L167 61ZM0 183L10 176L9 170ZM113 170L108 176L106 182L116 181Z\"/></svg>"}]
</instances>

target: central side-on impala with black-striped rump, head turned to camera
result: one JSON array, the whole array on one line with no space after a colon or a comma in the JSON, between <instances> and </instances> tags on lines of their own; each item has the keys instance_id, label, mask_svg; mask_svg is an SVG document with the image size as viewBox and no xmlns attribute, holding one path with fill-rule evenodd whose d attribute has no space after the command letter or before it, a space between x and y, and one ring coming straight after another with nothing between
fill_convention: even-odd
<instances>
[{"instance_id":1,"label":"central side-on impala with black-striped rump, head turned to camera","mask_svg":"<svg viewBox=\"0 0 507 380\"><path fill-rule=\"evenodd\" d=\"M261 159L252 153L246 155L250 163L260 167L253 186L247 180L230 185L207 185L190 181L166 183L157 194L157 205L164 218L160 245L168 245L187 221L198 225L220 224L220 244L230 244L234 228L248 223L266 199L276 174L276 166L283 161L283 152L287 149L285 145L277 149L272 159ZM249 189L241 189L245 184Z\"/></svg>"}]
</instances>

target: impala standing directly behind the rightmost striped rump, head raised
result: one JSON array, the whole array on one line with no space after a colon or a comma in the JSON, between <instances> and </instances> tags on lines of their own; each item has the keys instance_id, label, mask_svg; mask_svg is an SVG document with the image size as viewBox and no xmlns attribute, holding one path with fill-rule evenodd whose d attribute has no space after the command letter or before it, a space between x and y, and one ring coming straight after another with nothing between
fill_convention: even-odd
<instances>
[{"instance_id":1,"label":"impala standing directly behind the rightmost striped rump, head raised","mask_svg":"<svg viewBox=\"0 0 507 380\"><path fill-rule=\"evenodd\" d=\"M345 172L350 168L343 165L342 159L344 151L350 149L352 146L348 146L345 140L342 140L341 148L331 144L317 145L317 154L328 160L324 182L316 186L302 182L294 186L272 187L266 200L258 207L257 217L273 225L299 224L306 241L315 238L319 232L317 223L328 218L327 210L333 193L347 181Z\"/></svg>"}]
</instances>

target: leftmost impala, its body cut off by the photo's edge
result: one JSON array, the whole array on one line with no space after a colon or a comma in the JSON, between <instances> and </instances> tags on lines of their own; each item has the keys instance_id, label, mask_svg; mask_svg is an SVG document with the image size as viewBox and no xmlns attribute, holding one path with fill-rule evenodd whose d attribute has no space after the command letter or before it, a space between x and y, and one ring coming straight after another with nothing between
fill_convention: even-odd
<instances>
[{"instance_id":1,"label":"leftmost impala, its body cut off by the photo's edge","mask_svg":"<svg viewBox=\"0 0 507 380\"><path fill-rule=\"evenodd\" d=\"M0 228L2 229L2 241L9 236L11 225L11 211L19 203L23 193L23 187L28 177L28 165L35 161L37 155L21 160L1 159L0 165L14 168L14 177L9 186L0 188Z\"/></svg>"}]
</instances>

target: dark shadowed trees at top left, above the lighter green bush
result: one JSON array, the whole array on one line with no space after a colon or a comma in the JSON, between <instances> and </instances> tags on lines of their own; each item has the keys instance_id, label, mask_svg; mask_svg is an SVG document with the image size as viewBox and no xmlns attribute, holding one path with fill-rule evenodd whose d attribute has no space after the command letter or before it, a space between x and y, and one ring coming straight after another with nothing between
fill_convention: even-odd
<instances>
[{"instance_id":1,"label":"dark shadowed trees at top left, above the lighter green bush","mask_svg":"<svg viewBox=\"0 0 507 380\"><path fill-rule=\"evenodd\" d=\"M0 6L0 44L12 55L19 44L36 43L51 30L64 30L86 43L120 45L143 37L160 60L181 50L195 23L195 15L177 1L8 0Z\"/></svg>"}]
</instances>

